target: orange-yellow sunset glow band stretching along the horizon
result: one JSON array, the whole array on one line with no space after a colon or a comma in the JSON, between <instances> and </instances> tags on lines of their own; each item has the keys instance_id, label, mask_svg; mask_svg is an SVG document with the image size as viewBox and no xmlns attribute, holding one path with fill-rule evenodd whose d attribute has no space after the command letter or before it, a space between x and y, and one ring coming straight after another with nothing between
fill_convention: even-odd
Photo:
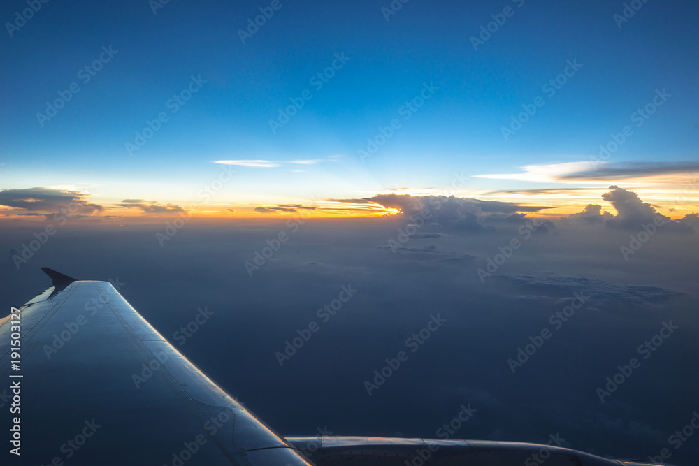
<instances>
[{"instance_id":1,"label":"orange-yellow sunset glow band stretching along the horizon","mask_svg":"<svg viewBox=\"0 0 699 466\"><path fill-rule=\"evenodd\" d=\"M653 205L656 210L672 219L681 219L687 214L699 212L699 192L696 184L679 183L668 186L667 175L646 177L647 184L631 186L633 183L619 184L620 187L635 192L644 203ZM686 181L686 180L685 180ZM511 191L466 191L446 193L430 188L400 188L389 194L410 196L445 196L472 198L481 201L514 203L521 207L542 207L538 212L523 212L528 217L555 219L582 212L589 204L601 205L603 211L617 214L614 207L602 198L609 191L609 185L600 187L522 189ZM0 218L13 224L65 224L65 223L108 223L108 224L153 224L172 221L178 217L225 221L229 219L273 220L273 219L362 219L379 218L400 214L393 207L385 207L369 201L368 198L349 200L310 200L295 204L235 204L200 203L193 205L159 204L167 206L160 212L140 212L120 205L104 205L103 210L91 215L62 219L54 214L36 214L11 207L0 207ZM97 201L99 202L99 201ZM549 208L544 208L549 207ZM526 210L526 209L525 209ZM522 211L519 211L522 212Z\"/></svg>"}]
</instances>

